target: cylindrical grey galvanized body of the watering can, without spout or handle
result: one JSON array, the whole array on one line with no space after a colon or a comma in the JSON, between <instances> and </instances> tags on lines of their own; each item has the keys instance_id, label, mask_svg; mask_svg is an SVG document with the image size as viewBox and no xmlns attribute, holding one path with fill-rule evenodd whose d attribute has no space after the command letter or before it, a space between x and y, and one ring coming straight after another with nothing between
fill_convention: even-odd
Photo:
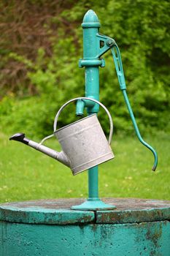
<instances>
[{"instance_id":1,"label":"cylindrical grey galvanized body of the watering can, without spout or handle","mask_svg":"<svg viewBox=\"0 0 170 256\"><path fill-rule=\"evenodd\" d=\"M96 114L55 132L75 175L114 157Z\"/></svg>"}]
</instances>

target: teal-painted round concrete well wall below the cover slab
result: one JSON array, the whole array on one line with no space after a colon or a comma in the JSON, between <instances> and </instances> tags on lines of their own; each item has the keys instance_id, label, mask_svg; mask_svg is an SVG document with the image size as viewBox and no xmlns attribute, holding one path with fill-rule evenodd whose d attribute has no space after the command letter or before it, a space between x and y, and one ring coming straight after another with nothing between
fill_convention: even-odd
<instances>
[{"instance_id":1,"label":"teal-painted round concrete well wall below the cover slab","mask_svg":"<svg viewBox=\"0 0 170 256\"><path fill-rule=\"evenodd\" d=\"M170 255L168 221L122 225L28 225L1 222L1 234L1 256Z\"/></svg>"}]
</instances>

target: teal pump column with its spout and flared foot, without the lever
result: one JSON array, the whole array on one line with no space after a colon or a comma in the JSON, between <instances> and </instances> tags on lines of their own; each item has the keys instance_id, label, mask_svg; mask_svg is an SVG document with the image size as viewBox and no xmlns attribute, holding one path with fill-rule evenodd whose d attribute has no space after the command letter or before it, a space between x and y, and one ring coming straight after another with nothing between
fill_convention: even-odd
<instances>
[{"instance_id":1,"label":"teal pump column with its spout and flared foot, without the lever","mask_svg":"<svg viewBox=\"0 0 170 256\"><path fill-rule=\"evenodd\" d=\"M99 67L104 67L104 59L98 58L100 50L98 40L98 28L100 23L93 10L88 10L82 20L83 29L83 59L79 61L79 67L85 67L85 97L99 100ZM99 105L88 100L77 102L77 115L82 116L86 107L88 115L98 113ZM98 198L98 166L88 170L88 200L80 206L72 206L73 209L96 210L115 208L107 205Z\"/></svg>"}]
</instances>

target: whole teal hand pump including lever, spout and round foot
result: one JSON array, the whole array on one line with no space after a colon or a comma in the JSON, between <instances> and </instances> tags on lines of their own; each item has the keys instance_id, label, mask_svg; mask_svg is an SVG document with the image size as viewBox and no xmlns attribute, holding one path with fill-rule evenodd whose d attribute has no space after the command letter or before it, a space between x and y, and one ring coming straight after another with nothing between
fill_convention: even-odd
<instances>
[{"instance_id":1,"label":"whole teal hand pump including lever, spout and round foot","mask_svg":"<svg viewBox=\"0 0 170 256\"><path fill-rule=\"evenodd\" d=\"M139 141L152 151L155 162L152 170L158 165L158 157L156 151L143 139L140 135L134 113L131 109L128 95L126 94L125 77L123 73L123 64L121 61L120 50L114 39L98 33L100 23L98 17L93 10L88 10L82 21L83 29L83 59L79 61L79 67L85 67L85 97L99 100L99 67L104 67L104 59L101 56L108 50L112 50L113 60L117 72L117 78L120 84L120 90L123 92L125 104L131 116ZM87 100L77 101L77 115L82 116L84 108L87 108L88 115L98 113L98 104L88 102ZM88 200L80 206L74 206L75 209L109 209L109 206L98 198L98 166L88 170Z\"/></svg>"}]
</instances>

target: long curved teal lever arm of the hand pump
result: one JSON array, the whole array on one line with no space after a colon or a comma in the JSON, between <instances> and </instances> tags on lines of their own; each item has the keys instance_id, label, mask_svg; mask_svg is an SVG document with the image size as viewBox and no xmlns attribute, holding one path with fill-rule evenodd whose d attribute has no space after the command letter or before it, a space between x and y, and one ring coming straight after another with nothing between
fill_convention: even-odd
<instances>
[{"instance_id":1,"label":"long curved teal lever arm of the hand pump","mask_svg":"<svg viewBox=\"0 0 170 256\"><path fill-rule=\"evenodd\" d=\"M115 63L115 68L116 68L116 72L117 72L117 78L119 80L119 83L120 83L120 90L123 92L123 97L125 99L125 104L128 108L128 112L131 116L131 121L134 125L134 129L135 129L135 132L136 132L136 135L137 135L137 138L139 139L139 141L144 145L146 146L147 148L150 149L150 151L152 151L152 154L154 155L154 159L155 159L155 162L154 162L154 165L152 167L152 170L155 170L157 165L158 165L158 155L156 153L156 151L152 148L152 146L150 146L148 143L146 143L143 139L142 139L142 136L139 132L139 128L136 124L136 120L135 120L135 117L134 117L134 113L131 109L131 104L128 100L128 95L126 93L126 86L125 86L125 76L124 76L124 72L123 72L123 64L122 64L122 61L121 61L121 56L120 56L120 50L117 46L117 44L115 43L112 48L112 56L113 56L113 60L114 60L114 63Z\"/></svg>"}]
</instances>

